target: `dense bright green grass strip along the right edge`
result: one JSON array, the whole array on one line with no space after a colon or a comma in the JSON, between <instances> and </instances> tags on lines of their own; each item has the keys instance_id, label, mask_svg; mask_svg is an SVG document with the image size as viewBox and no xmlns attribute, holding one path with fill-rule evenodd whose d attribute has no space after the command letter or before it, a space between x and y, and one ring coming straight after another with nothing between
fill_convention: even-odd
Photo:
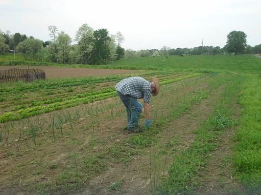
<instances>
[{"instance_id":1,"label":"dense bright green grass strip along the right edge","mask_svg":"<svg viewBox=\"0 0 261 195\"><path fill-rule=\"evenodd\" d=\"M245 187L261 192L260 78L252 76L245 79L239 103L242 111L233 152L235 173Z\"/></svg>"}]
</instances>

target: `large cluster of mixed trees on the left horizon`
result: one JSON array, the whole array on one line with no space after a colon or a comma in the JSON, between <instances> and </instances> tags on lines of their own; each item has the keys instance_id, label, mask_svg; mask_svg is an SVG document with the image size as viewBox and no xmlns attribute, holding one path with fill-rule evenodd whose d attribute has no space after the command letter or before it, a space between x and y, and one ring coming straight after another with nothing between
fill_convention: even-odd
<instances>
[{"instance_id":1,"label":"large cluster of mixed trees on the left horizon","mask_svg":"<svg viewBox=\"0 0 261 195\"><path fill-rule=\"evenodd\" d=\"M83 24L76 32L76 44L71 37L56 26L48 26L50 40L42 41L34 37L10 31L0 31L0 53L8 50L21 52L25 60L56 63L106 64L110 60L124 57L124 48L120 46L123 35L109 35L107 29L94 30Z\"/></svg>"}]
</instances>

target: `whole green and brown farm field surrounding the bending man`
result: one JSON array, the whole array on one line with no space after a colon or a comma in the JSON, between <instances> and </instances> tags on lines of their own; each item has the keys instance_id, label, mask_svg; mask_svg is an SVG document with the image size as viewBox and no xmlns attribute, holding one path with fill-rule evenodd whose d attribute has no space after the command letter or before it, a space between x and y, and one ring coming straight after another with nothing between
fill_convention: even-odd
<instances>
[{"instance_id":1,"label":"whole green and brown farm field surrounding the bending man","mask_svg":"<svg viewBox=\"0 0 261 195\"><path fill-rule=\"evenodd\" d=\"M98 68L137 71L0 83L0 194L260 194L261 59ZM142 114L140 131L127 134L114 85L134 75L159 78L161 91L150 101L152 127L142 130Z\"/></svg>"}]
</instances>

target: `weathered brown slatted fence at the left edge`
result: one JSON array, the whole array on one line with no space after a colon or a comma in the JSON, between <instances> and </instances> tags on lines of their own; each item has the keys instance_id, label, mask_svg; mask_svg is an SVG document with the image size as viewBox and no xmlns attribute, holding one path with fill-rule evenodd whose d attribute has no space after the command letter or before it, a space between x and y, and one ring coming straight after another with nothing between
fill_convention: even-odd
<instances>
[{"instance_id":1,"label":"weathered brown slatted fence at the left edge","mask_svg":"<svg viewBox=\"0 0 261 195\"><path fill-rule=\"evenodd\" d=\"M33 81L35 79L46 79L46 74L41 69L20 69L11 68L0 70L0 82L11 82L11 81Z\"/></svg>"}]
</instances>

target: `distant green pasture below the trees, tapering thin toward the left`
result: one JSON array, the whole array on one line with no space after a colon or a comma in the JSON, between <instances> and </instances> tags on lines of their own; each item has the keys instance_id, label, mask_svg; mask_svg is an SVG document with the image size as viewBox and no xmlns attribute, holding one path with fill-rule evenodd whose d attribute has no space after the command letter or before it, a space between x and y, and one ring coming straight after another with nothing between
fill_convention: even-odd
<instances>
[{"instance_id":1,"label":"distant green pasture below the trees, tapering thin toward the left","mask_svg":"<svg viewBox=\"0 0 261 195\"><path fill-rule=\"evenodd\" d=\"M261 74L261 60L254 55L215 55L215 56L165 56L133 58L112 61L106 65L86 64L57 64L50 62L27 62L23 60L1 60L6 59L0 55L0 65L47 65L58 67L85 67L105 69L130 69L130 70L158 70L192 73L251 73Z\"/></svg>"}]
</instances>

